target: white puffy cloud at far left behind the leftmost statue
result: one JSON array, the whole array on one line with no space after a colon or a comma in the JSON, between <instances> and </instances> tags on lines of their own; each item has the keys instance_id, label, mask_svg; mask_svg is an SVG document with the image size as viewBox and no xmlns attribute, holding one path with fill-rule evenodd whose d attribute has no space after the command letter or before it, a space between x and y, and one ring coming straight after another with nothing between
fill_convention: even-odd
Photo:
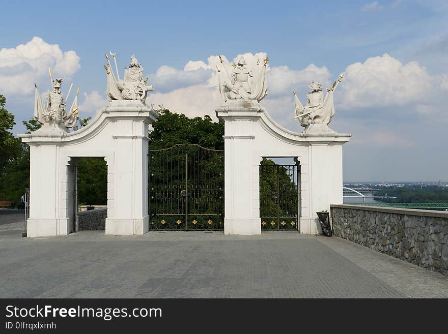
<instances>
[{"instance_id":1,"label":"white puffy cloud at far left behind the leftmost statue","mask_svg":"<svg viewBox=\"0 0 448 334\"><path fill-rule=\"evenodd\" d=\"M0 91L3 94L32 94L34 82L49 84L48 68L53 77L71 76L80 69L75 51L62 51L58 44L48 44L40 37L15 48L0 50Z\"/></svg>"}]
</instances>

